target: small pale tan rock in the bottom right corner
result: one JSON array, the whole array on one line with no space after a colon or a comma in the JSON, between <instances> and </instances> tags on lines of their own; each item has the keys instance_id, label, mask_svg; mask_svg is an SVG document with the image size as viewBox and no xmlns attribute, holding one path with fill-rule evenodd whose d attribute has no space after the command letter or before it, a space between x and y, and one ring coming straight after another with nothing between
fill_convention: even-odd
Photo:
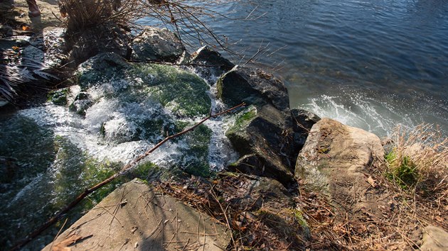
<instances>
[{"instance_id":1,"label":"small pale tan rock in the bottom right corner","mask_svg":"<svg viewBox=\"0 0 448 251\"><path fill-rule=\"evenodd\" d=\"M422 251L448 250L448 233L443 228L428 225L423 230Z\"/></svg>"}]
</instances>

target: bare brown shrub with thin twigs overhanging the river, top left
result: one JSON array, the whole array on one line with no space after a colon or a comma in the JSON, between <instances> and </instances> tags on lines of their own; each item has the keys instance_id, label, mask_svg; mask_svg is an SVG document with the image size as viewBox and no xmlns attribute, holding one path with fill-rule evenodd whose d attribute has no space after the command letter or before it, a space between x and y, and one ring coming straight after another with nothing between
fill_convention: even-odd
<instances>
[{"instance_id":1,"label":"bare brown shrub with thin twigs overhanging the river, top left","mask_svg":"<svg viewBox=\"0 0 448 251\"><path fill-rule=\"evenodd\" d=\"M217 17L230 19L219 7L234 1L239 0L59 0L59 4L61 13L67 17L65 24L73 32L109 21L138 29L136 21L140 18L155 19L156 23L174 30L185 45L205 44L232 52L227 38L215 34L207 21Z\"/></svg>"}]
</instances>

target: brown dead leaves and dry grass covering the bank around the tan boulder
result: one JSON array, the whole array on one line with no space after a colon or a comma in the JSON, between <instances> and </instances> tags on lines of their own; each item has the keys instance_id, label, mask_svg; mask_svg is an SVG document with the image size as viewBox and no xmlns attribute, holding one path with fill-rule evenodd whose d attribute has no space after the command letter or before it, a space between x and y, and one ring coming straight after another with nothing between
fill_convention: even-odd
<instances>
[{"instance_id":1,"label":"brown dead leaves and dry grass covering the bank around the tan boulder","mask_svg":"<svg viewBox=\"0 0 448 251\"><path fill-rule=\"evenodd\" d=\"M220 174L211 183L193 178L157 187L228 225L233 232L228 250L418 250L425 227L448 230L447 139L430 125L412 132L398 128L394 136L387 148L415 162L416 183L401 186L388 175L398 160L370 167L368 188L361 198L380 193L383 201L356 211L300 185L290 195L293 203L272 203L265 196L257 198L253 187L247 186L248 179L256 178L245 174Z\"/></svg>"}]
</instances>

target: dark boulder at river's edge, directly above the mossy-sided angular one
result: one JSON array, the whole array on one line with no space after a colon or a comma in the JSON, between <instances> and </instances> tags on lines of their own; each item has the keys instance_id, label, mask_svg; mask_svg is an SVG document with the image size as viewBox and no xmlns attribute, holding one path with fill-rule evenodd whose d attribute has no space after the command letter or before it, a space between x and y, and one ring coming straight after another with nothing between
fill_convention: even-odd
<instances>
[{"instance_id":1,"label":"dark boulder at river's edge, directly above the mossy-sided angular one","mask_svg":"<svg viewBox=\"0 0 448 251\"><path fill-rule=\"evenodd\" d=\"M218 79L218 98L228 106L242 102L257 107L272 104L280 111L289 110L288 91L272 74L260 69L235 67Z\"/></svg>"}]
</instances>

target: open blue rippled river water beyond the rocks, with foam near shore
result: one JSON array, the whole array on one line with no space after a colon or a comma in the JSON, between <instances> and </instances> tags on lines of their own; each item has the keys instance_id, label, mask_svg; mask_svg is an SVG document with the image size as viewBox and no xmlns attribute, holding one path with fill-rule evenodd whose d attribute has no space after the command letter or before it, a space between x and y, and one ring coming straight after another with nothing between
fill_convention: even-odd
<instances>
[{"instance_id":1,"label":"open blue rippled river water beyond the rocks, with foam near shore","mask_svg":"<svg viewBox=\"0 0 448 251\"><path fill-rule=\"evenodd\" d=\"M247 2L218 11L260 18L210 26L246 58L269 44L259 61L284 79L292 107L379 136L398 123L448 132L448 1Z\"/></svg>"}]
</instances>

